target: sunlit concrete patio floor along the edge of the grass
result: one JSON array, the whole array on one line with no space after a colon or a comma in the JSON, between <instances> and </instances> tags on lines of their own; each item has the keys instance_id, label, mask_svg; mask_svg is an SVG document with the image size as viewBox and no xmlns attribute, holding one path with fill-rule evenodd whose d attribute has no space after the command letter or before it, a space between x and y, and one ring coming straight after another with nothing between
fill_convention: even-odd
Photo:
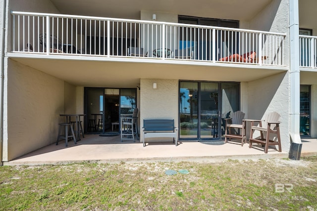
<instances>
[{"instance_id":1,"label":"sunlit concrete patio floor along the edge of the grass","mask_svg":"<svg viewBox=\"0 0 317 211\"><path fill-rule=\"evenodd\" d=\"M301 156L317 155L317 139L303 139ZM77 144L60 141L28 153L4 165L43 165L70 162L98 161L118 162L219 162L227 159L249 160L268 158L288 158L288 153L281 153L269 148L265 154L261 145L249 148L249 143L232 141L223 145L210 145L197 141L179 141L178 146L172 142L152 142L146 147L136 141L120 141L120 136L104 137L98 134L86 134Z\"/></svg>"}]
</instances>

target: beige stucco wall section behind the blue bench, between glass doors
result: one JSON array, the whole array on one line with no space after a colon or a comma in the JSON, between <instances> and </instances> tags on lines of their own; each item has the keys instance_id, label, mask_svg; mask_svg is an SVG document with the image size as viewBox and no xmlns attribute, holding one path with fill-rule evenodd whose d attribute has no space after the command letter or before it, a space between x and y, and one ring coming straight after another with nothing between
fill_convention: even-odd
<instances>
[{"instance_id":1,"label":"beige stucco wall section behind the blue bench, between glass doors","mask_svg":"<svg viewBox=\"0 0 317 211\"><path fill-rule=\"evenodd\" d=\"M157 83L156 89L153 83ZM174 119L178 126L178 80L141 79L140 128L144 119Z\"/></svg>"}]
</instances>

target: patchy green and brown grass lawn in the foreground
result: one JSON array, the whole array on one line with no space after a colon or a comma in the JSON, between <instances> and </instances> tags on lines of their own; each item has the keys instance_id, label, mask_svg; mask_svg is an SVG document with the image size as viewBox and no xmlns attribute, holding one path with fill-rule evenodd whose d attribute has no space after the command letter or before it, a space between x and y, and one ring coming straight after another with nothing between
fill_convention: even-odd
<instances>
[{"instance_id":1,"label":"patchy green and brown grass lawn in the foreground","mask_svg":"<svg viewBox=\"0 0 317 211\"><path fill-rule=\"evenodd\" d=\"M317 157L4 166L0 210L317 211Z\"/></svg>"}]
</instances>

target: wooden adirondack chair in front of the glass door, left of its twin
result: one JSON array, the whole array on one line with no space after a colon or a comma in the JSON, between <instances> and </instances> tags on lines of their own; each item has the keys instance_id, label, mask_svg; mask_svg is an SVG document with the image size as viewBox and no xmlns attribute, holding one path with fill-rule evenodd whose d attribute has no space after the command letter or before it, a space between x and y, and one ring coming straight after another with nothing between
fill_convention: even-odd
<instances>
[{"instance_id":1,"label":"wooden adirondack chair in front of the glass door, left of its twin","mask_svg":"<svg viewBox=\"0 0 317 211\"><path fill-rule=\"evenodd\" d=\"M232 114L232 118L225 119L224 143L227 143L227 138L229 138L229 141L231 141L231 138L241 139L241 146L243 146L243 139L245 139L246 143L246 124L245 121L243 121L244 116L245 113L242 111L236 111ZM239 130L241 130L241 134Z\"/></svg>"}]
</instances>

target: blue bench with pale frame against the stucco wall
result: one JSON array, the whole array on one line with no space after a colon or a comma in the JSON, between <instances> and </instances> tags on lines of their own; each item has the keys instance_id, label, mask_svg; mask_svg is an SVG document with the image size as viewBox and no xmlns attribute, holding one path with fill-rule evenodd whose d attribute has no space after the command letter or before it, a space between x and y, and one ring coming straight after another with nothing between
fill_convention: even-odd
<instances>
[{"instance_id":1,"label":"blue bench with pale frame against the stucco wall","mask_svg":"<svg viewBox=\"0 0 317 211\"><path fill-rule=\"evenodd\" d=\"M143 120L143 146L146 138L173 138L177 146L178 128L174 127L174 120Z\"/></svg>"}]
</instances>

